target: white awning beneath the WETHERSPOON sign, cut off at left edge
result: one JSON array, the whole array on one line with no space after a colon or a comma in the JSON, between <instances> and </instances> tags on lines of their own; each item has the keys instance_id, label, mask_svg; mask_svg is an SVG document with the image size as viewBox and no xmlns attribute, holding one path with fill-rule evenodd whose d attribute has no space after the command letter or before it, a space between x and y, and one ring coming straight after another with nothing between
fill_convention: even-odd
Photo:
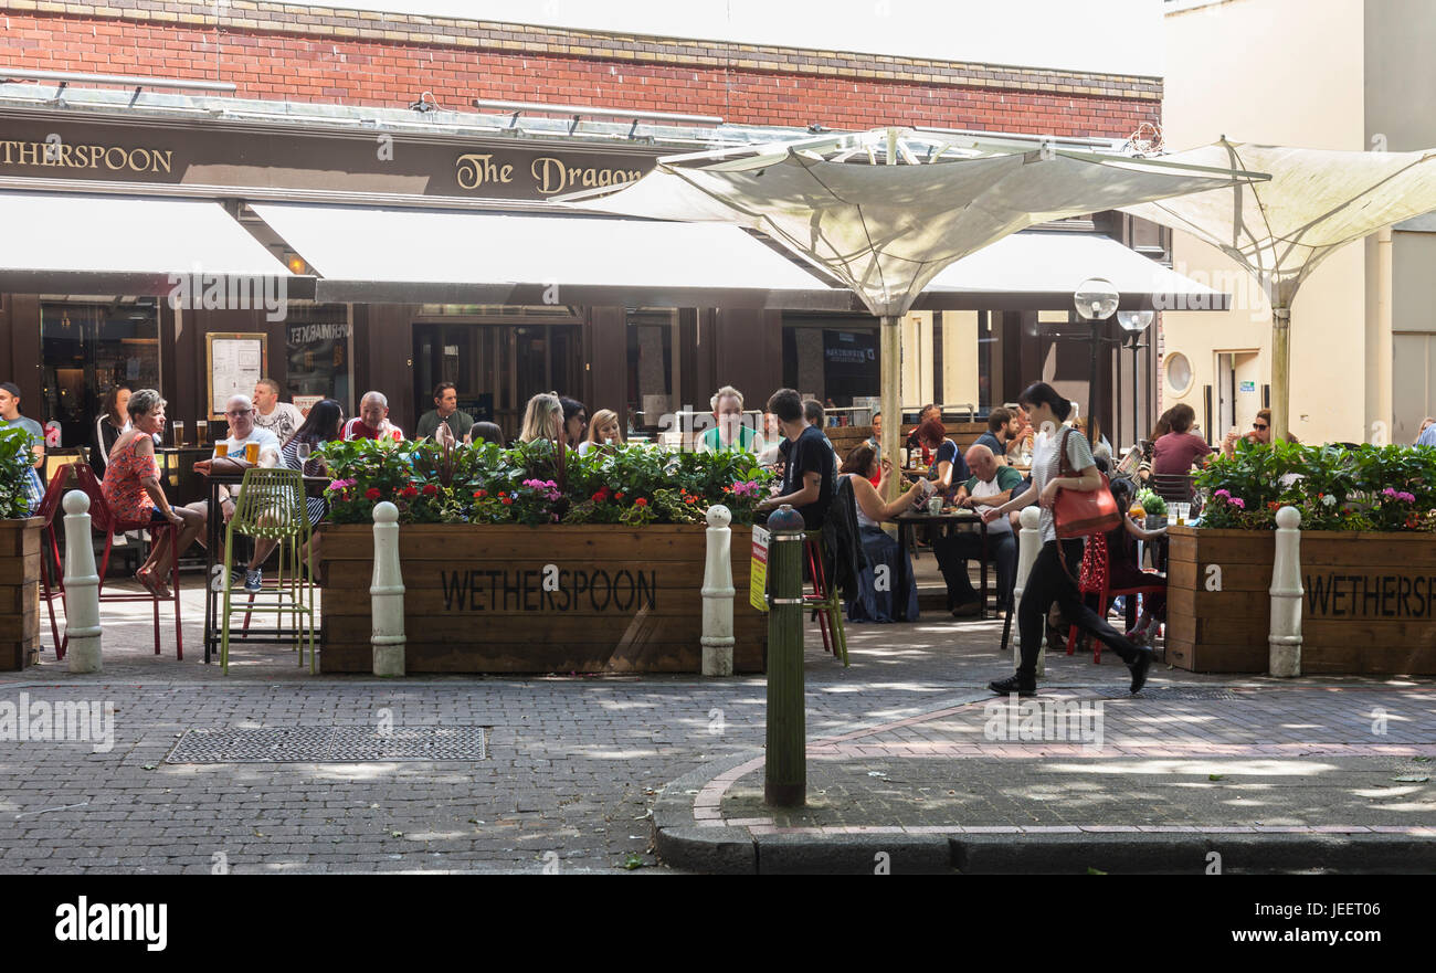
<instances>
[{"instance_id":1,"label":"white awning beneath the WETHERSPOON sign, cut off at left edge","mask_svg":"<svg viewBox=\"0 0 1436 973\"><path fill-rule=\"evenodd\" d=\"M168 294L178 274L294 277L218 202L0 192L0 290ZM192 283L194 278L191 278Z\"/></svg>"}]
</instances>

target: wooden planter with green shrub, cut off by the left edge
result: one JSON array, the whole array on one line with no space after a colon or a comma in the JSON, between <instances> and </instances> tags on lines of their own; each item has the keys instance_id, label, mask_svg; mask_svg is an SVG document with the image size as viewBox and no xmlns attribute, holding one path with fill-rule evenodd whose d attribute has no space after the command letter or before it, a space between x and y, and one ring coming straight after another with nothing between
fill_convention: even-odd
<instances>
[{"instance_id":1,"label":"wooden planter with green shrub, cut off by the left edge","mask_svg":"<svg viewBox=\"0 0 1436 973\"><path fill-rule=\"evenodd\" d=\"M24 669L40 656L40 528L30 517L26 479L30 435L0 429L0 670Z\"/></svg>"}]
</instances>

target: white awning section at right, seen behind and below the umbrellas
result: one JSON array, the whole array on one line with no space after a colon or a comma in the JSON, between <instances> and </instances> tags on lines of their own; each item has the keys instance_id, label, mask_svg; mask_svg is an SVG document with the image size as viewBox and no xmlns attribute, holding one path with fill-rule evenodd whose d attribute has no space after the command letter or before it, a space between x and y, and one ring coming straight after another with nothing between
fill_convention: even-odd
<instances>
[{"instance_id":1,"label":"white awning section at right, seen behind and below the umbrellas","mask_svg":"<svg viewBox=\"0 0 1436 973\"><path fill-rule=\"evenodd\" d=\"M1071 310L1073 291L1106 277L1122 309L1222 310L1229 294L1123 247L1110 237L1018 232L942 270L915 304L919 309Z\"/></svg>"}]
</instances>

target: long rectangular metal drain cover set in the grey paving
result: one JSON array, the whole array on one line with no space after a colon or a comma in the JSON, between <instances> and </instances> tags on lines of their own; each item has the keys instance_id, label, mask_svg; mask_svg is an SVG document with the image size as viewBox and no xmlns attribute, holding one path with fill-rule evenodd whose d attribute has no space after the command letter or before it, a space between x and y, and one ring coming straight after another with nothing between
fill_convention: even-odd
<instances>
[{"instance_id":1,"label":"long rectangular metal drain cover set in the grey paving","mask_svg":"<svg viewBox=\"0 0 1436 973\"><path fill-rule=\"evenodd\" d=\"M482 726L286 726L187 730L165 763L350 763L482 761Z\"/></svg>"}]
</instances>

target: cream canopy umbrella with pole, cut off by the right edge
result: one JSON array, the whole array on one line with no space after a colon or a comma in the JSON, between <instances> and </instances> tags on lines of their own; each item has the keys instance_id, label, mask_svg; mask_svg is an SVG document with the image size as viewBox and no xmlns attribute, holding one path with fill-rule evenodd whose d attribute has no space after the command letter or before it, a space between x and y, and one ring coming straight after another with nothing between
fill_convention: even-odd
<instances>
[{"instance_id":1,"label":"cream canopy umbrella with pole, cut off by the right edge","mask_svg":"<svg viewBox=\"0 0 1436 973\"><path fill-rule=\"evenodd\" d=\"M1160 156L1271 174L1208 192L1122 207L1183 230L1241 264L1271 301L1271 429L1291 425L1291 301L1333 251L1436 210L1436 151L1334 152L1228 142Z\"/></svg>"}]
</instances>

